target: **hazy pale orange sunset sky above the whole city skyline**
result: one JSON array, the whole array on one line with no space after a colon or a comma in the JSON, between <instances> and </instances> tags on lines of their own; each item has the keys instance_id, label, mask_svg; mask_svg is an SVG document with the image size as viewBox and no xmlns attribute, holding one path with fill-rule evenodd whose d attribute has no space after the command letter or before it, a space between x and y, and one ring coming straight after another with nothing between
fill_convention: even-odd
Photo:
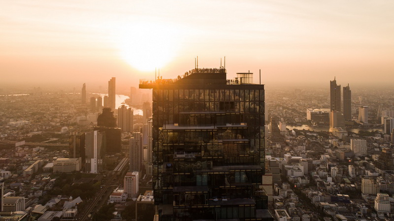
<instances>
[{"instance_id":1,"label":"hazy pale orange sunset sky above the whole city skyline","mask_svg":"<svg viewBox=\"0 0 394 221\"><path fill-rule=\"evenodd\" d=\"M394 83L393 0L0 0L0 86L119 87L194 68ZM255 83L258 83L255 75Z\"/></svg>"}]
</instances>

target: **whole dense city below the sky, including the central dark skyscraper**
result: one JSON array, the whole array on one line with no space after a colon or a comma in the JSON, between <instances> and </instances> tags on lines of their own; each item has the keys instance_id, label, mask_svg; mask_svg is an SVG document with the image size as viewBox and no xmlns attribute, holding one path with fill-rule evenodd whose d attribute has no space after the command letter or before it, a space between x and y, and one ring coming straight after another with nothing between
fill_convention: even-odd
<instances>
[{"instance_id":1,"label":"whole dense city below the sky, including the central dark skyscraper","mask_svg":"<svg viewBox=\"0 0 394 221\"><path fill-rule=\"evenodd\" d=\"M226 74L1 89L0 220L393 220L392 91Z\"/></svg>"}]
</instances>

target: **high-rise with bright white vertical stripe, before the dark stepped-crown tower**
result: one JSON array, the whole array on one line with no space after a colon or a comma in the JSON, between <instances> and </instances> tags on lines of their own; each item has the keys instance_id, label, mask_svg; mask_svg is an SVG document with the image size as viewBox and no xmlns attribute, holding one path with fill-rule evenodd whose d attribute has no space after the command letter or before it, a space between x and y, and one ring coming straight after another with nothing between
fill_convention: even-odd
<instances>
[{"instance_id":1,"label":"high-rise with bright white vertical stripe, before the dark stepped-crown tower","mask_svg":"<svg viewBox=\"0 0 394 221\"><path fill-rule=\"evenodd\" d=\"M99 173L105 167L105 132L93 130L85 134L85 168L88 173Z\"/></svg>"}]
</instances>

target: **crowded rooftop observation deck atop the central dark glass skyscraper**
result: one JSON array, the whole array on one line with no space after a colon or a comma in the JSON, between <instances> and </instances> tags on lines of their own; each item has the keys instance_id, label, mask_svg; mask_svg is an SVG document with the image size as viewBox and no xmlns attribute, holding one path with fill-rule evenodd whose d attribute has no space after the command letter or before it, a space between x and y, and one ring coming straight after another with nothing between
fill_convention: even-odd
<instances>
[{"instance_id":1,"label":"crowded rooftop observation deck atop the central dark glass skyscraper","mask_svg":"<svg viewBox=\"0 0 394 221\"><path fill-rule=\"evenodd\" d=\"M156 80L139 80L139 88L152 89L164 85L241 85L252 84L253 73L237 73L234 79L226 78L227 72L225 68L195 68L186 71L182 76L178 75L174 79L163 79L163 76Z\"/></svg>"}]
</instances>

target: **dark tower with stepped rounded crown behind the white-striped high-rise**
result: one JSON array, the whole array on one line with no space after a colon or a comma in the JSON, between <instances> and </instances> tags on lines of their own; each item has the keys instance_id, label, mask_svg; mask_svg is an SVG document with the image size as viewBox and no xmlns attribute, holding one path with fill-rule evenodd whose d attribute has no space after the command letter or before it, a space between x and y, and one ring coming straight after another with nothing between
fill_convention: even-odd
<instances>
[{"instance_id":1,"label":"dark tower with stepped rounded crown behind the white-striped high-rise","mask_svg":"<svg viewBox=\"0 0 394 221\"><path fill-rule=\"evenodd\" d=\"M105 132L106 151L105 153L120 153L122 149L122 129L116 126L116 118L111 108L104 107L102 113L97 118L95 130Z\"/></svg>"}]
</instances>

